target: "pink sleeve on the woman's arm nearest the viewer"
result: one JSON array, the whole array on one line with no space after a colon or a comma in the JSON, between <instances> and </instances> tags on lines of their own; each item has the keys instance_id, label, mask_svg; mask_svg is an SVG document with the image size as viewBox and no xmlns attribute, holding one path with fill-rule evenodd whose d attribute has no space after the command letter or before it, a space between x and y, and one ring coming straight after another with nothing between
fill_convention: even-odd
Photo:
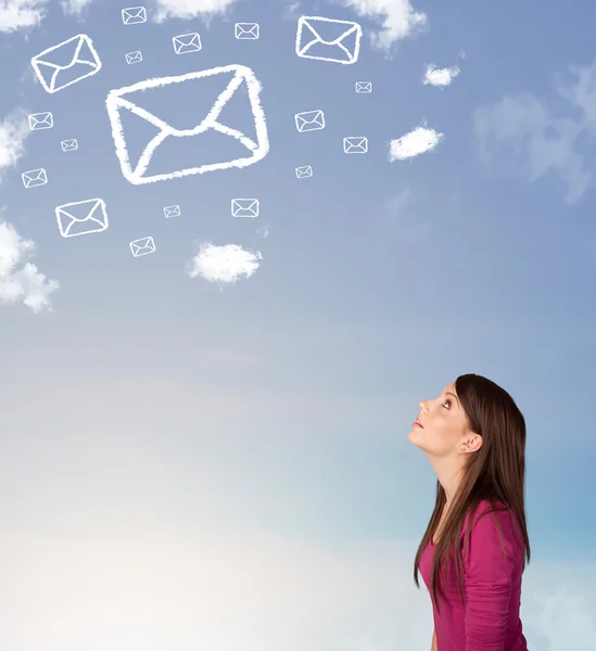
<instances>
[{"instance_id":1,"label":"pink sleeve on the woman's arm nearest the viewer","mask_svg":"<svg viewBox=\"0 0 596 651\"><path fill-rule=\"evenodd\" d=\"M503 548L493 513L477 511L465 561L466 651L503 651L515 571L509 515L497 512Z\"/></svg>"}]
</instances>

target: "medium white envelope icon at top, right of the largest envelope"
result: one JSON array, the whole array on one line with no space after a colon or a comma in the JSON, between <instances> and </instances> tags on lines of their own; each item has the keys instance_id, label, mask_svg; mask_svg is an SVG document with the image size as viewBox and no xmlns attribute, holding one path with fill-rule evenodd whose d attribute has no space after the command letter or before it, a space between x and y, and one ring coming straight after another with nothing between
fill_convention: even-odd
<instances>
[{"instance_id":1,"label":"medium white envelope icon at top, right of the largest envelope","mask_svg":"<svg viewBox=\"0 0 596 651\"><path fill-rule=\"evenodd\" d=\"M351 64L358 61L363 28L351 21L301 16L296 54L303 59Z\"/></svg>"}]
</instances>

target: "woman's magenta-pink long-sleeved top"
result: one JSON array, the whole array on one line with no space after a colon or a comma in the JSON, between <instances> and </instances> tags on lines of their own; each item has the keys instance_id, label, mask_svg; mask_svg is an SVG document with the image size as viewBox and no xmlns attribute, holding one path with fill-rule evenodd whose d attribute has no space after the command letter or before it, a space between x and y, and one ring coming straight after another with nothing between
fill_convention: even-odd
<instances>
[{"instance_id":1,"label":"woman's magenta-pink long-sleeved top","mask_svg":"<svg viewBox=\"0 0 596 651\"><path fill-rule=\"evenodd\" d=\"M461 602L453 561L448 579L441 583L443 593L438 595L441 615L433 603L438 651L528 651L519 618L522 550L508 512L497 511L506 551L503 556L490 508L487 500L480 502L470 531L468 554L461 564L466 607ZM487 514L482 516L484 513ZM461 552L468 519L469 514L461 529ZM513 512L511 519L517 525L518 538L522 540ZM420 557L420 574L429 590L433 556L434 545L429 542ZM439 572L442 572L441 566Z\"/></svg>"}]
</instances>

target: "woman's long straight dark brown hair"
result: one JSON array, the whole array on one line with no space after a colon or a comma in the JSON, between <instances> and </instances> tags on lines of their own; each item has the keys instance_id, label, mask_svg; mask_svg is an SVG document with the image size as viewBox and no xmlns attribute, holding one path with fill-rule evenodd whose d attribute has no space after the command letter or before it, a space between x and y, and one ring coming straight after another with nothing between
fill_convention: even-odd
<instances>
[{"instance_id":1,"label":"woman's long straight dark brown hair","mask_svg":"<svg viewBox=\"0 0 596 651\"><path fill-rule=\"evenodd\" d=\"M523 414L513 398L504 388L482 375L473 373L460 375L455 381L455 391L468 417L470 429L482 436L482 447L477 452L469 455L470 458L445 519L441 538L434 548L435 553L431 565L431 598L439 613L441 613L441 609L438 595L443 591L439 567L440 565L443 567L443 577L446 577L452 560L456 570L461 601L465 601L459 553L460 533L466 515L469 513L464 542L466 551L471 524L481 500L489 500L493 510L504 510L495 505L496 501L503 502L509 511L509 518L511 518L511 512L517 516L522 537L522 540L518 539L518 542L524 550L522 571L530 562L530 539L524 501L525 421ZM420 557L429 541L432 540L445 502L445 490L436 482L434 510L414 560L414 582L417 587L420 587L418 582ZM498 522L497 531L502 538ZM517 536L516 526L513 526L513 531ZM458 553L455 553L455 550Z\"/></svg>"}]
</instances>

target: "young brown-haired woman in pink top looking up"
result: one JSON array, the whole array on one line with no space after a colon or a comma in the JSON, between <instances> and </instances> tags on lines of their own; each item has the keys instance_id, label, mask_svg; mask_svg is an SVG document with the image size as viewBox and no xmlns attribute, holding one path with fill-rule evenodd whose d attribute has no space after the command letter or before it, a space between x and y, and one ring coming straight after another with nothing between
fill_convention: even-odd
<instances>
[{"instance_id":1,"label":"young brown-haired woman in pink top looking up","mask_svg":"<svg viewBox=\"0 0 596 651\"><path fill-rule=\"evenodd\" d=\"M511 396L460 375L419 405L408 434L436 474L434 511L414 561L431 595L432 651L528 651L519 617L530 562L525 421Z\"/></svg>"}]
</instances>

